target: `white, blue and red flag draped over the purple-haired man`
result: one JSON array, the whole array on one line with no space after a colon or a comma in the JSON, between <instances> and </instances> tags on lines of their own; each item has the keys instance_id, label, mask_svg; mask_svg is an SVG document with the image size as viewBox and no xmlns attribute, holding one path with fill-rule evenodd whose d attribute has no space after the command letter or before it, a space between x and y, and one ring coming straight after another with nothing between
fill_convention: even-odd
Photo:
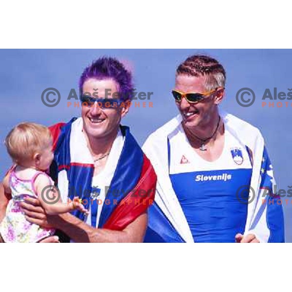
<instances>
[{"instance_id":1,"label":"white, blue and red flag draped over the purple-haired man","mask_svg":"<svg viewBox=\"0 0 292 292\"><path fill-rule=\"evenodd\" d=\"M79 118L80 119L80 118ZM50 127L54 140L54 167L51 176L57 181L62 200L82 199L85 208L91 203L93 160L89 150L81 145L76 133L78 121L59 123ZM130 134L129 128L120 126L125 143L106 195L98 227L123 230L144 213L154 201L156 174L149 160ZM86 148L86 149L85 149ZM72 211L84 220L84 214Z\"/></svg>"}]
</instances>

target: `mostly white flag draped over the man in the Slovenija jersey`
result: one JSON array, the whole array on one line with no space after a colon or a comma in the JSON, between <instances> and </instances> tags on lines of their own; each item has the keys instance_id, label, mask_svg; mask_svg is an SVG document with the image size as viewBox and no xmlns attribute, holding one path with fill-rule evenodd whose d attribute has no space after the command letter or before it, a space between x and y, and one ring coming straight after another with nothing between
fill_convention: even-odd
<instances>
[{"instance_id":1,"label":"mostly white flag draped over the man in the Slovenija jersey","mask_svg":"<svg viewBox=\"0 0 292 292\"><path fill-rule=\"evenodd\" d=\"M252 158L250 199L244 234L255 234L260 242L284 242L282 206L275 201L272 203L264 194L266 189L273 190L274 176L260 131L232 114L221 112L220 116L225 128L246 147ZM176 116L152 133L143 146L158 178L155 202L148 211L146 242L194 242L168 175L167 139L181 122L181 115Z\"/></svg>"}]
</instances>

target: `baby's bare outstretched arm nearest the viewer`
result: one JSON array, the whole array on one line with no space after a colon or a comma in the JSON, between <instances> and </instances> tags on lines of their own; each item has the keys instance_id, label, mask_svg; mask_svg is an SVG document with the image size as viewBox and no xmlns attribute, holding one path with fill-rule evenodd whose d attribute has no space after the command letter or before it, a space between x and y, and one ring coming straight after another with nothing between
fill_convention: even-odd
<instances>
[{"instance_id":1,"label":"baby's bare outstretched arm nearest the viewer","mask_svg":"<svg viewBox=\"0 0 292 292\"><path fill-rule=\"evenodd\" d=\"M67 213L74 209L78 209L83 213L88 213L84 206L79 202L78 198L74 198L73 201L68 203L62 203L57 188L54 186L54 188L52 187L50 189L48 188L48 185L51 185L48 177L42 174L38 175L35 181L35 188L40 204L48 215Z\"/></svg>"}]
</instances>

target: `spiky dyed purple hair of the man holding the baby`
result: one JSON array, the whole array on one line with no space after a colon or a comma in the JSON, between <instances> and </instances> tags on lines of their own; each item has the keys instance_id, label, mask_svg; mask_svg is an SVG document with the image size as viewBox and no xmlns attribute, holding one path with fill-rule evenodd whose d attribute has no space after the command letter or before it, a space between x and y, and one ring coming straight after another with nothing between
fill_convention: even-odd
<instances>
[{"instance_id":1,"label":"spiky dyed purple hair of the man holding the baby","mask_svg":"<svg viewBox=\"0 0 292 292\"><path fill-rule=\"evenodd\" d=\"M90 78L97 80L113 79L118 85L120 98L124 100L132 99L132 92L134 91L132 75L117 59L112 57L101 57L85 68L79 79L79 90L81 93L83 93L82 89L84 82Z\"/></svg>"}]
</instances>

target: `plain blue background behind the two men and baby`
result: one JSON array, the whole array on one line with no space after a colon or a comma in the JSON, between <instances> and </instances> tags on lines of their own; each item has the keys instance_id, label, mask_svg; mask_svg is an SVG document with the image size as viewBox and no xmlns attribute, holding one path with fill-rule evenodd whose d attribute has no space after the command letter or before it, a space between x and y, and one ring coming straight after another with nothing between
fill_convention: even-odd
<instances>
[{"instance_id":1,"label":"plain blue background behind the two men and baby","mask_svg":"<svg viewBox=\"0 0 292 292\"><path fill-rule=\"evenodd\" d=\"M276 104L274 108L262 108L261 98L266 88L273 92L277 87L278 92L286 94L292 89L292 50L0 50L0 141L22 121L49 126L79 116L80 109L67 107L67 96L72 88L77 91L83 69L92 60L108 55L128 61L137 91L154 92L153 108L132 107L123 120L142 145L152 131L177 114L170 95L175 69L188 55L197 53L211 55L224 66L227 83L222 109L261 130L278 189L287 190L288 185L292 185L292 101L282 101L282 108ZM62 96L54 108L45 107L41 102L41 92L48 87L58 89ZM240 107L235 98L243 87L256 93L256 101L249 108ZM10 164L6 149L0 143L1 178ZM292 242L292 198L287 199L289 204L284 205L286 241Z\"/></svg>"}]
</instances>

